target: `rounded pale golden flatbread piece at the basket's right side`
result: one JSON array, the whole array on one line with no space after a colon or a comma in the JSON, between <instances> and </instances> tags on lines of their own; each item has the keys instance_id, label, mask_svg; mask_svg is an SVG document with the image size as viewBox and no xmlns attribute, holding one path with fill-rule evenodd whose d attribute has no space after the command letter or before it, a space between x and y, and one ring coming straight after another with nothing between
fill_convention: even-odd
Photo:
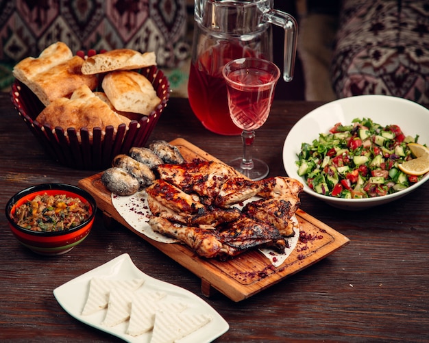
<instances>
[{"instance_id":1,"label":"rounded pale golden flatbread piece at the basket's right side","mask_svg":"<svg viewBox=\"0 0 429 343\"><path fill-rule=\"evenodd\" d=\"M151 82L135 71L112 71L103 78L102 87L119 111L149 115L161 102Z\"/></svg>"}]
</instances>

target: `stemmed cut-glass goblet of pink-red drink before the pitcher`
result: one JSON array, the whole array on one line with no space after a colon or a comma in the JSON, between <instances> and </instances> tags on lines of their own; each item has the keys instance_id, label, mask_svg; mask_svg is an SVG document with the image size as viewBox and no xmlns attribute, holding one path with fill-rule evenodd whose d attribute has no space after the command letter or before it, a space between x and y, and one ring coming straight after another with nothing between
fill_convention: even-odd
<instances>
[{"instance_id":1,"label":"stemmed cut-glass goblet of pink-red drink before the pitcher","mask_svg":"<svg viewBox=\"0 0 429 343\"><path fill-rule=\"evenodd\" d=\"M229 164L254 181L269 173L268 165L252 157L255 131L267 120L280 77L278 66L260 58L239 58L222 70L228 90L228 105L234 124L242 129L243 157Z\"/></svg>"}]
</instances>

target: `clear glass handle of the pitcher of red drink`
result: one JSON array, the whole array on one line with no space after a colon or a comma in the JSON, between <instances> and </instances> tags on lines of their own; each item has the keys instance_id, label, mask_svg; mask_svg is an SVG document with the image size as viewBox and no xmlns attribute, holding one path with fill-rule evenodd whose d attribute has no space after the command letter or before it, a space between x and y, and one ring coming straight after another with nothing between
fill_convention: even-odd
<instances>
[{"instance_id":1,"label":"clear glass handle of the pitcher of red drink","mask_svg":"<svg viewBox=\"0 0 429 343\"><path fill-rule=\"evenodd\" d=\"M295 58L297 51L298 24L295 18L282 11L271 9L264 14L268 23L283 27L284 46L283 46L283 79L290 82L293 79L295 69Z\"/></svg>"}]
</instances>

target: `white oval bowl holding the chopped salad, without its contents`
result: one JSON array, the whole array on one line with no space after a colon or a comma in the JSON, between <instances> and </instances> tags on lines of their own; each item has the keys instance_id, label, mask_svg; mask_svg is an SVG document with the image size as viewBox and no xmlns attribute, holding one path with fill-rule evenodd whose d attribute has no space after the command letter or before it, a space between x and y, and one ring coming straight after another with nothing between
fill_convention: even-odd
<instances>
[{"instance_id":1,"label":"white oval bowl holding the chopped salad, without its contents","mask_svg":"<svg viewBox=\"0 0 429 343\"><path fill-rule=\"evenodd\" d=\"M412 192L428 181L429 173L412 186L384 196L365 199L341 199L318 194L297 173L297 154L301 144L312 143L319 134L328 133L336 123L350 125L354 118L371 118L382 126L399 125L405 136L419 136L418 143L429 146L429 110L413 101L386 95L360 95L326 103L302 117L289 131L283 146L283 164L289 177L304 184L304 192L341 209L365 209L389 203Z\"/></svg>"}]
</instances>

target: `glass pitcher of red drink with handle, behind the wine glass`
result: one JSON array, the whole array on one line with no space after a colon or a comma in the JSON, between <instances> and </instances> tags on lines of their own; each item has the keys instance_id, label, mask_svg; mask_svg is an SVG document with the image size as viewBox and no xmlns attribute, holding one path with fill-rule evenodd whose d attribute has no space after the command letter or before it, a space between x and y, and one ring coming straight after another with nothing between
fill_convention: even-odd
<instances>
[{"instance_id":1,"label":"glass pitcher of red drink with handle, behind the wine glass","mask_svg":"<svg viewBox=\"0 0 429 343\"><path fill-rule=\"evenodd\" d=\"M243 57L273 60L271 25L284 29L284 81L295 66L297 22L274 10L273 0L195 0L189 103L201 123L221 135L239 135L232 123L222 67Z\"/></svg>"}]
</instances>

